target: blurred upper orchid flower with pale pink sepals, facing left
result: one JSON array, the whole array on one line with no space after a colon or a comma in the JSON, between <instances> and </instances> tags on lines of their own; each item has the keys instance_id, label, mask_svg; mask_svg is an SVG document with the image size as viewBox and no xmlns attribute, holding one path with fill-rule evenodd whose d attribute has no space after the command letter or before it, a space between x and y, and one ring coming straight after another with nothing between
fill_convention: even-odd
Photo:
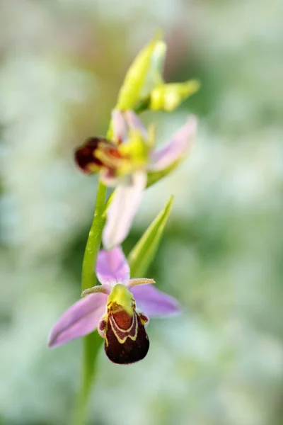
<instances>
[{"instance_id":1,"label":"blurred upper orchid flower with pale pink sepals, facing left","mask_svg":"<svg viewBox=\"0 0 283 425\"><path fill-rule=\"evenodd\" d=\"M185 157L197 130L197 118L190 115L161 149L154 149L154 132L148 132L132 111L112 111L112 127L113 141L94 137L75 154L83 172L100 171L105 185L116 186L103 229L106 249L120 245L127 237L146 188L147 173L171 169Z\"/></svg>"}]
</instances>

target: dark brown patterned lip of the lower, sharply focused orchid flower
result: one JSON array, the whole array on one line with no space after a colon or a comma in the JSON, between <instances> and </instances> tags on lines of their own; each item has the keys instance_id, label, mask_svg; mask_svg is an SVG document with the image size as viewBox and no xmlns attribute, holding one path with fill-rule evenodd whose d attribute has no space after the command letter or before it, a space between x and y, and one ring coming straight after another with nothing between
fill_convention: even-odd
<instances>
[{"instance_id":1,"label":"dark brown patterned lip of the lower, sharply focused orchid flower","mask_svg":"<svg viewBox=\"0 0 283 425\"><path fill-rule=\"evenodd\" d=\"M105 331L105 353L113 363L129 364L143 359L149 351L149 337L144 329L148 319L134 310L110 313Z\"/></svg>"}]
</instances>

